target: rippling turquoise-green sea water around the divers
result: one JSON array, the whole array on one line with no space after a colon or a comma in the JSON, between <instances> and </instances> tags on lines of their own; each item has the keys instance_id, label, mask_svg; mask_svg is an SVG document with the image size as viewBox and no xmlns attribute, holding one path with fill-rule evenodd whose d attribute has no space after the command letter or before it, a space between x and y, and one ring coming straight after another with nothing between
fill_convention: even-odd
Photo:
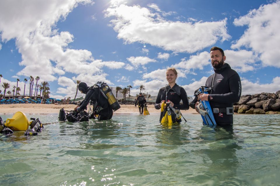
<instances>
[{"instance_id":1,"label":"rippling turquoise-green sea water around the divers","mask_svg":"<svg viewBox=\"0 0 280 186\"><path fill-rule=\"evenodd\" d=\"M279 185L279 115L234 115L232 128L184 117L168 127L156 114L114 114L1 137L0 185Z\"/></svg>"}]
</instances>

